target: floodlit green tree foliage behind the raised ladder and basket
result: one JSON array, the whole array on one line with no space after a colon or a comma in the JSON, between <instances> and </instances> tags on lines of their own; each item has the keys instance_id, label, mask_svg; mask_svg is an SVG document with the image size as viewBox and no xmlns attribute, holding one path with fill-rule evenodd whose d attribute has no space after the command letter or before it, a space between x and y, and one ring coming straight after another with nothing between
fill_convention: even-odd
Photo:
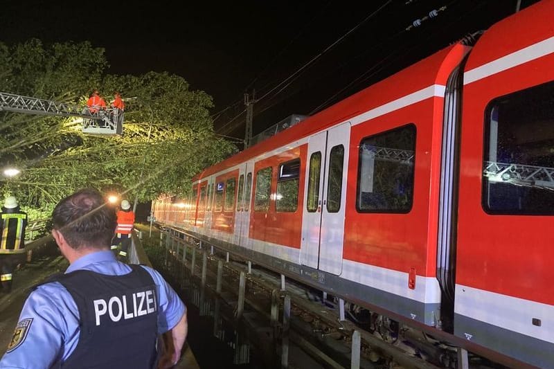
<instances>
[{"instance_id":1,"label":"floodlit green tree foliage behind the raised ladder and basket","mask_svg":"<svg viewBox=\"0 0 554 369\"><path fill-rule=\"evenodd\" d=\"M193 175L236 151L215 136L204 91L168 73L105 75L107 66L89 42L0 43L0 91L84 105L98 88L108 104L114 91L126 104L123 136L114 137L84 135L75 118L0 113L1 161L23 169L0 182L3 194L48 210L85 186L139 201L184 196Z\"/></svg>"}]
</instances>

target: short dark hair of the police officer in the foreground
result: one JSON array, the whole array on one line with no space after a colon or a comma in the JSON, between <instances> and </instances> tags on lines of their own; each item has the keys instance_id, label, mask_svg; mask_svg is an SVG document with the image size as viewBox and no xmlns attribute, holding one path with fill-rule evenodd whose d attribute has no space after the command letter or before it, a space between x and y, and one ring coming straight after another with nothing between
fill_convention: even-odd
<instances>
[{"instance_id":1,"label":"short dark hair of the police officer in the foreground","mask_svg":"<svg viewBox=\"0 0 554 369\"><path fill-rule=\"evenodd\" d=\"M117 226L116 211L94 188L83 188L62 199L52 213L54 229L73 249L109 246Z\"/></svg>"}]
</instances>

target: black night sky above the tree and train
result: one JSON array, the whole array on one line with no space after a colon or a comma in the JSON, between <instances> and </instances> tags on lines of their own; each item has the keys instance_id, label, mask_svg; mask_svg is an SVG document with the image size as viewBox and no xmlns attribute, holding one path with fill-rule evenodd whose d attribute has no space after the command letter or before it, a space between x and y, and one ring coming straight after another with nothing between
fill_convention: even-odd
<instances>
[{"instance_id":1,"label":"black night sky above the tree and train","mask_svg":"<svg viewBox=\"0 0 554 369\"><path fill-rule=\"evenodd\" d=\"M521 8L535 2L521 0ZM485 30L515 12L517 0L113 4L3 0L0 41L88 40L106 49L108 73L175 73L192 89L213 96L216 132L244 138L244 92L256 89L259 99L256 134L291 114L314 114L468 33ZM431 10L438 16L406 30Z\"/></svg>"}]
</instances>

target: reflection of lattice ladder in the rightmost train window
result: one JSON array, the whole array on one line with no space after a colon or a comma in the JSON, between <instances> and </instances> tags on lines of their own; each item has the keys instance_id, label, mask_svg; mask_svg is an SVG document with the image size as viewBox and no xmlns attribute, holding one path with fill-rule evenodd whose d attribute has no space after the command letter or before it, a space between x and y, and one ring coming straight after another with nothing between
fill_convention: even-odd
<instances>
[{"instance_id":1,"label":"reflection of lattice ladder in the rightmost train window","mask_svg":"<svg viewBox=\"0 0 554 369\"><path fill-rule=\"evenodd\" d=\"M483 176L491 182L554 190L554 168L485 161Z\"/></svg>"}]
</instances>

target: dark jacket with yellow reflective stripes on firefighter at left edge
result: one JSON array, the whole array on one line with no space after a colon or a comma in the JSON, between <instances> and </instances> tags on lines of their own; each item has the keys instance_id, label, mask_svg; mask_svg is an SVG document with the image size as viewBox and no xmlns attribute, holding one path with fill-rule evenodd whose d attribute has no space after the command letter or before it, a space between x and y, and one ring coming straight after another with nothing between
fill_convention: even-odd
<instances>
[{"instance_id":1,"label":"dark jacket with yellow reflective stripes on firefighter at left edge","mask_svg":"<svg viewBox=\"0 0 554 369\"><path fill-rule=\"evenodd\" d=\"M1 217L2 239L0 242L0 253L24 253L27 214L19 211L19 208L5 208Z\"/></svg>"}]
</instances>

